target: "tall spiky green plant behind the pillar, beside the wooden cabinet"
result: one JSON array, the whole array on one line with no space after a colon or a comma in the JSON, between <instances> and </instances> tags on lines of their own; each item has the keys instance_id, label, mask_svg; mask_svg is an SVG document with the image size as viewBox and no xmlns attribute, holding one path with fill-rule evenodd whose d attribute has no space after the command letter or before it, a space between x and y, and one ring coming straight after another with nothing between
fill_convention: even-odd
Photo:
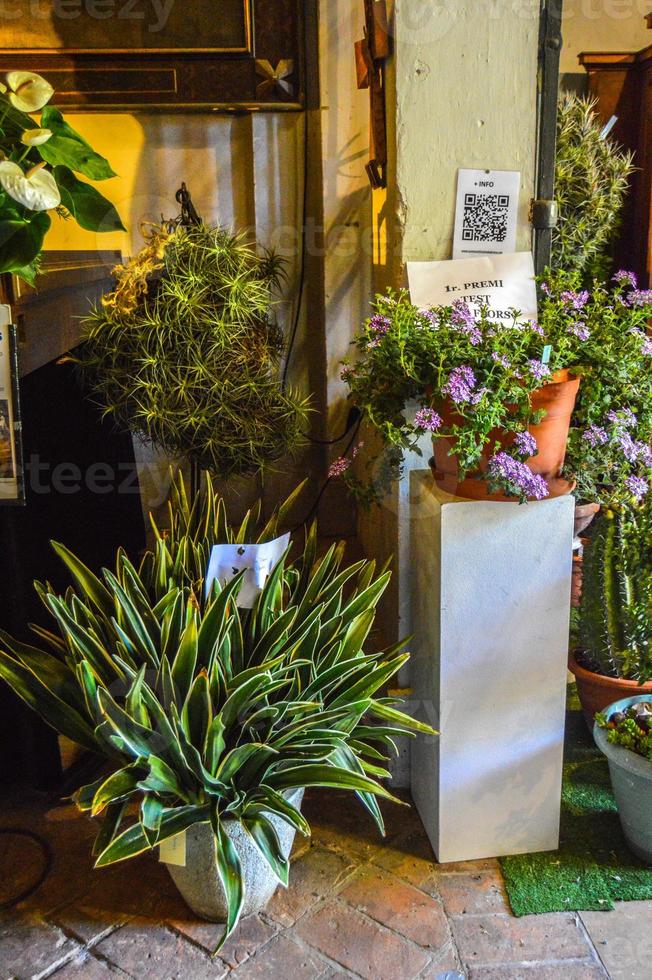
<instances>
[{"instance_id":1,"label":"tall spiky green plant behind the pillar, beside the wooden cabinet","mask_svg":"<svg viewBox=\"0 0 652 980\"><path fill-rule=\"evenodd\" d=\"M559 222L553 233L553 269L608 275L609 250L634 171L633 156L610 139L595 113L595 100L562 95L557 122L555 197Z\"/></svg>"}]
</instances>

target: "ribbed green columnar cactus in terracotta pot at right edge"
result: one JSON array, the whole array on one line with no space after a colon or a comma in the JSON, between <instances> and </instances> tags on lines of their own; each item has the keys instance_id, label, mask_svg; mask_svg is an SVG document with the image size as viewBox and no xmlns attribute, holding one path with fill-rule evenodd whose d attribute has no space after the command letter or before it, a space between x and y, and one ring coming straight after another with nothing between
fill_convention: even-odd
<instances>
[{"instance_id":1,"label":"ribbed green columnar cactus in terracotta pot at right edge","mask_svg":"<svg viewBox=\"0 0 652 980\"><path fill-rule=\"evenodd\" d=\"M641 684L652 680L652 502L606 511L583 569L584 666Z\"/></svg>"}]
</instances>

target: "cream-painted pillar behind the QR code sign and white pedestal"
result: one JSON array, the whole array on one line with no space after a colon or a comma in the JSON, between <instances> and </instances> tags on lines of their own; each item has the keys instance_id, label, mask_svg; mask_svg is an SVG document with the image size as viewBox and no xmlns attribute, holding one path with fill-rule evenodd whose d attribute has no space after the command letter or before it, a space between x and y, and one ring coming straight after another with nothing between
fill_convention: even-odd
<instances>
[{"instance_id":1,"label":"cream-painted pillar behind the QR code sign and white pedestal","mask_svg":"<svg viewBox=\"0 0 652 980\"><path fill-rule=\"evenodd\" d=\"M482 9L480 9L482 8ZM452 251L457 170L489 167L521 172L517 248L531 246L529 203L536 169L536 80L539 6L496 0L430 4L395 0L394 56L389 66L391 179L384 212L385 259L379 288L405 282L410 260L448 259ZM387 640L413 632L408 544L411 469L387 495L380 513L362 514L360 535L369 554L396 556L382 609Z\"/></svg>"}]
</instances>

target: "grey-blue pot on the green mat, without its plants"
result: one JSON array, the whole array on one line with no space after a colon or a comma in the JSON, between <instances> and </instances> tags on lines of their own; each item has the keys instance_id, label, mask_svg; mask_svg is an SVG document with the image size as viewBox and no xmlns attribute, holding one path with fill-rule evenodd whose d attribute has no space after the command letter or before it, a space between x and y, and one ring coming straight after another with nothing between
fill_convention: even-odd
<instances>
[{"instance_id":1,"label":"grey-blue pot on the green mat, without its plants","mask_svg":"<svg viewBox=\"0 0 652 980\"><path fill-rule=\"evenodd\" d=\"M641 701L652 701L652 696L639 695L615 701L605 708L604 714L609 717ZM607 731L597 723L593 737L609 762L611 785L625 839L637 857L652 864L652 762L622 745L612 745L607 739Z\"/></svg>"}]
</instances>

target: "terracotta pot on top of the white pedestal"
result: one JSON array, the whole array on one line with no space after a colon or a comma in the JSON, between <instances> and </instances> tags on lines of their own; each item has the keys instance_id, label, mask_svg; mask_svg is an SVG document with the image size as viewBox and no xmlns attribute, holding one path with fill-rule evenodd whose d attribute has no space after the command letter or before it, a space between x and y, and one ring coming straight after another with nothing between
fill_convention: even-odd
<instances>
[{"instance_id":1,"label":"terracotta pot on top of the white pedestal","mask_svg":"<svg viewBox=\"0 0 652 980\"><path fill-rule=\"evenodd\" d=\"M529 431L537 441L539 452L526 460L527 466L533 473L542 476L550 491L550 497L563 497L573 490L573 484L561 478L560 474L566 459L566 442L570 429L571 417L580 387L580 379L569 371L557 371L550 382L532 393L532 408L535 412L545 411L545 418L538 425L531 425ZM442 418L445 425L454 425L459 420L452 405L443 406ZM493 454L493 444L501 442L503 448L509 450L513 438L505 437L500 429L495 429L490 436L489 444L485 447L480 469L477 474L458 479L457 456L449 456L454 441L435 437L434 465L435 481L447 493L458 497L468 497L471 500L498 500L513 502L516 498L505 494L489 493L485 474L489 460Z\"/></svg>"}]
</instances>

